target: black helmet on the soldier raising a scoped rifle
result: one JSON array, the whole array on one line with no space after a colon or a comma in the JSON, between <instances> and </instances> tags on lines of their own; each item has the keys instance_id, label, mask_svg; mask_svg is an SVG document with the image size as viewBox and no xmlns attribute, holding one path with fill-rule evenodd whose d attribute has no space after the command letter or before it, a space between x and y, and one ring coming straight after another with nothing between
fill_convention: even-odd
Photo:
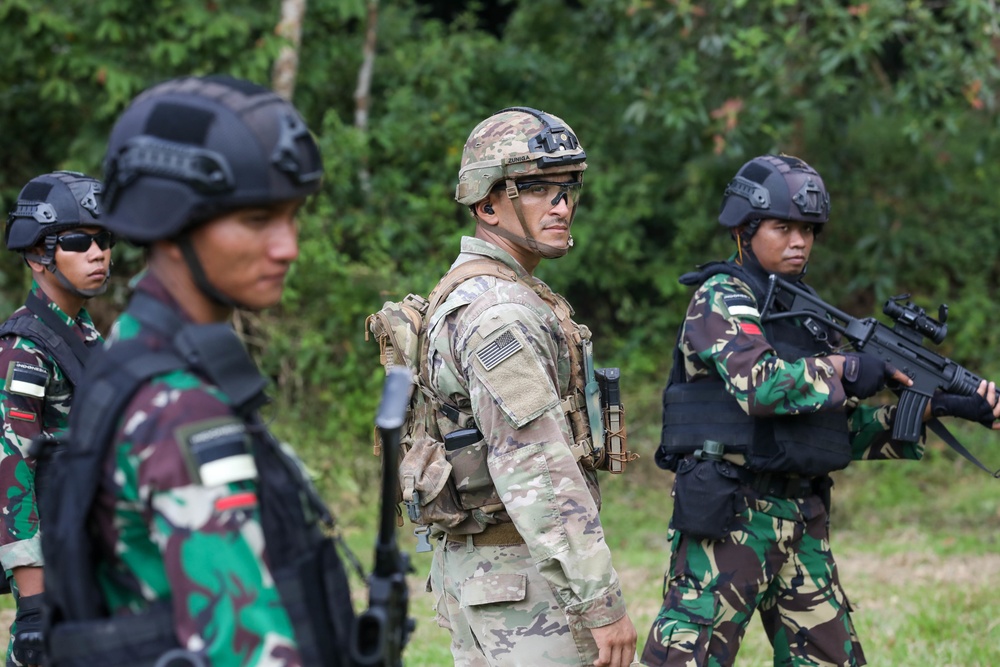
<instances>
[{"instance_id":1,"label":"black helmet on the soldier raising a scoped rifle","mask_svg":"<svg viewBox=\"0 0 1000 667\"><path fill-rule=\"evenodd\" d=\"M768 218L824 223L829 217L830 195L815 169L791 155L761 155L726 186L719 222L734 228Z\"/></svg>"}]
</instances>

